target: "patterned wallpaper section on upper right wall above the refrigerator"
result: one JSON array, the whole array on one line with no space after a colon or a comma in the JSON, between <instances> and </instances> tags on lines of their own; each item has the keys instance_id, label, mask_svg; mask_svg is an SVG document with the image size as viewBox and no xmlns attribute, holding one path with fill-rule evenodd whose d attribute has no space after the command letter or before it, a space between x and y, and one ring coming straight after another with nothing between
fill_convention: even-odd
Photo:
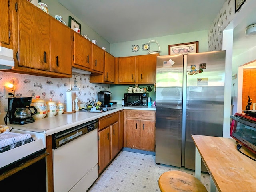
<instances>
[{"instance_id":1,"label":"patterned wallpaper section on upper right wall above the refrigerator","mask_svg":"<svg viewBox=\"0 0 256 192\"><path fill-rule=\"evenodd\" d=\"M235 16L235 0L226 0L208 31L208 51L222 50L223 30Z\"/></svg>"}]
</instances>

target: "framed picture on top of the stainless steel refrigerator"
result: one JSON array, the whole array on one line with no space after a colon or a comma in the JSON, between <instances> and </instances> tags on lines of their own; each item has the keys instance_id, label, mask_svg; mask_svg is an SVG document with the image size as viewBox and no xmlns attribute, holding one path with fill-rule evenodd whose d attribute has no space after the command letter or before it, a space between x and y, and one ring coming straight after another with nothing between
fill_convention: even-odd
<instances>
[{"instance_id":1,"label":"framed picture on top of the stainless steel refrigerator","mask_svg":"<svg viewBox=\"0 0 256 192\"><path fill-rule=\"evenodd\" d=\"M198 41L169 45L169 55L177 53L198 53Z\"/></svg>"}]
</instances>

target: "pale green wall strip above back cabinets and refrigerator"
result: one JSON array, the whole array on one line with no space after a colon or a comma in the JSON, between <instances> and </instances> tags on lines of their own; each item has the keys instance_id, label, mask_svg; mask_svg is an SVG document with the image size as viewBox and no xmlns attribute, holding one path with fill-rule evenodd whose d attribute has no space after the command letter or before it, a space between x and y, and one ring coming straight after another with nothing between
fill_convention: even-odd
<instances>
[{"instance_id":1,"label":"pale green wall strip above back cabinets and refrigerator","mask_svg":"<svg viewBox=\"0 0 256 192\"><path fill-rule=\"evenodd\" d=\"M208 51L208 30L196 31L191 33L182 33L178 35L168 35L163 37L152 37L150 39L140 39L136 41L127 41L121 43L110 44L110 53L115 57L126 57L133 55L147 55L148 51L142 50L142 45L148 43L150 40L155 40L160 45L160 55L168 55L168 45L178 43L188 43L199 41L199 52ZM139 45L139 51L132 52L132 45ZM150 43L150 50L158 50L156 43Z\"/></svg>"}]
</instances>

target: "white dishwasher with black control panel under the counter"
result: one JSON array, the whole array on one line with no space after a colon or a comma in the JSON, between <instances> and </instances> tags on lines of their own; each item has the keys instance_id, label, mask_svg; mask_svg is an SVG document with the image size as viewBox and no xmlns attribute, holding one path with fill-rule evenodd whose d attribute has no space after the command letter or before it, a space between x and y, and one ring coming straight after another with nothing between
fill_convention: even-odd
<instances>
[{"instance_id":1,"label":"white dishwasher with black control panel under the counter","mask_svg":"<svg viewBox=\"0 0 256 192\"><path fill-rule=\"evenodd\" d=\"M98 120L52 135L54 192L85 192L98 178Z\"/></svg>"}]
</instances>

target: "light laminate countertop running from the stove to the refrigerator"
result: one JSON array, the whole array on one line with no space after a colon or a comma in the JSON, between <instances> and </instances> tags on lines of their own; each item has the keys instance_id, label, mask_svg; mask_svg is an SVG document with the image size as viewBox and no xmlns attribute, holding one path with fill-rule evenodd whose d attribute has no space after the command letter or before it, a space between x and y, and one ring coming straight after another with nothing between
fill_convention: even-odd
<instances>
[{"instance_id":1,"label":"light laminate countertop running from the stove to the refrigerator","mask_svg":"<svg viewBox=\"0 0 256 192\"><path fill-rule=\"evenodd\" d=\"M54 133L58 133L60 131L64 131L66 129L75 127L77 125L81 125L83 123L87 123L92 120L96 120L98 118L104 117L108 114L112 114L114 112L118 112L123 109L132 109L132 110L156 110L155 106L153 107L130 107L130 106L122 106L122 105L113 105L116 109L109 110L102 113L90 113L90 112L75 112L72 114L61 114L52 117L46 116L43 119L36 120L33 123L28 123L24 125L18 124L7 124L7 126L25 130L25 131L35 131L40 133L46 133L46 136L52 135ZM4 117L6 116L6 112L0 114L0 125L4 124ZM9 119L7 120L9 122Z\"/></svg>"}]
</instances>

